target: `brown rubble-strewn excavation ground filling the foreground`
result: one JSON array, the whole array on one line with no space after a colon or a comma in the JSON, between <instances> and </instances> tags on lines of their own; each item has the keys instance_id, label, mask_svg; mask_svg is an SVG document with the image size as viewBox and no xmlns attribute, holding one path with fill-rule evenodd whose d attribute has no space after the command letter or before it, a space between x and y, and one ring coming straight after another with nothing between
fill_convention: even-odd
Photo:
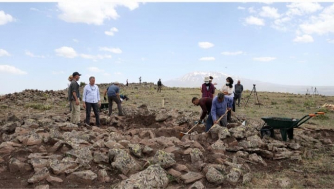
<instances>
[{"instance_id":1,"label":"brown rubble-strewn excavation ground filling the foreground","mask_svg":"<svg viewBox=\"0 0 334 189\"><path fill-rule=\"evenodd\" d=\"M333 152L333 129L295 129L294 139L285 142L279 130L274 137L261 138L263 122L238 114L227 128L203 133L201 124L181 137L198 114L149 105L123 105L124 117L115 112L108 117L102 110L101 127L94 126L92 111L87 128L69 122L66 98L67 90L0 96L0 188L248 188L262 182L255 179L259 172L300 168L303 160L317 153ZM32 102L52 103L53 111L47 106L34 109ZM247 125L241 124L244 120ZM333 162L333 157L328 161ZM272 178L271 182L275 183L271 188L292 187L291 180Z\"/></svg>"}]
</instances>

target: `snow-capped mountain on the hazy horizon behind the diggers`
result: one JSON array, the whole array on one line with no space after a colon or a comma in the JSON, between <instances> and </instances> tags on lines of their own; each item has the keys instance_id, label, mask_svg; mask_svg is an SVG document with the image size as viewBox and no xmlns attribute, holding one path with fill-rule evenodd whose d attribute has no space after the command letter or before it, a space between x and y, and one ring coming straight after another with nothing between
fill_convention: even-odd
<instances>
[{"instance_id":1,"label":"snow-capped mountain on the hazy horizon behind the diggers","mask_svg":"<svg viewBox=\"0 0 334 189\"><path fill-rule=\"evenodd\" d=\"M200 87L204 82L204 77L212 76L214 77L214 83L217 83L216 88L220 89L226 82L227 77L232 77L234 84L237 80L241 81L244 86L244 90L252 90L253 84L255 84L256 91L269 91L269 92L288 92L295 94L306 94L307 90L312 94L312 87L316 87L319 94L334 96L334 86L288 86L288 85L278 85L272 83L266 83L261 81L255 81L251 79L236 77L233 75L228 75L221 72L204 72L204 71L194 71L187 73L179 78L172 79L163 82L165 86L176 86L176 87Z\"/></svg>"}]
</instances>

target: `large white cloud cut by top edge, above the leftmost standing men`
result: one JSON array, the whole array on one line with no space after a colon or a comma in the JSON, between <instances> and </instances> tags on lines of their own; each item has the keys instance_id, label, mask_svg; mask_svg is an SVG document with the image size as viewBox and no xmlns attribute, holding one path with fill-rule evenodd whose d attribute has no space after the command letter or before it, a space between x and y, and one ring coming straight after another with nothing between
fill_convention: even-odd
<instances>
[{"instance_id":1,"label":"large white cloud cut by top edge, above the leftmost standing men","mask_svg":"<svg viewBox=\"0 0 334 189\"><path fill-rule=\"evenodd\" d=\"M125 6L130 10L138 8L139 4L133 0L122 0L114 2L77 1L67 0L58 3L61 14L58 16L66 22L86 23L102 25L106 19L117 19L119 17L116 7Z\"/></svg>"}]
</instances>

